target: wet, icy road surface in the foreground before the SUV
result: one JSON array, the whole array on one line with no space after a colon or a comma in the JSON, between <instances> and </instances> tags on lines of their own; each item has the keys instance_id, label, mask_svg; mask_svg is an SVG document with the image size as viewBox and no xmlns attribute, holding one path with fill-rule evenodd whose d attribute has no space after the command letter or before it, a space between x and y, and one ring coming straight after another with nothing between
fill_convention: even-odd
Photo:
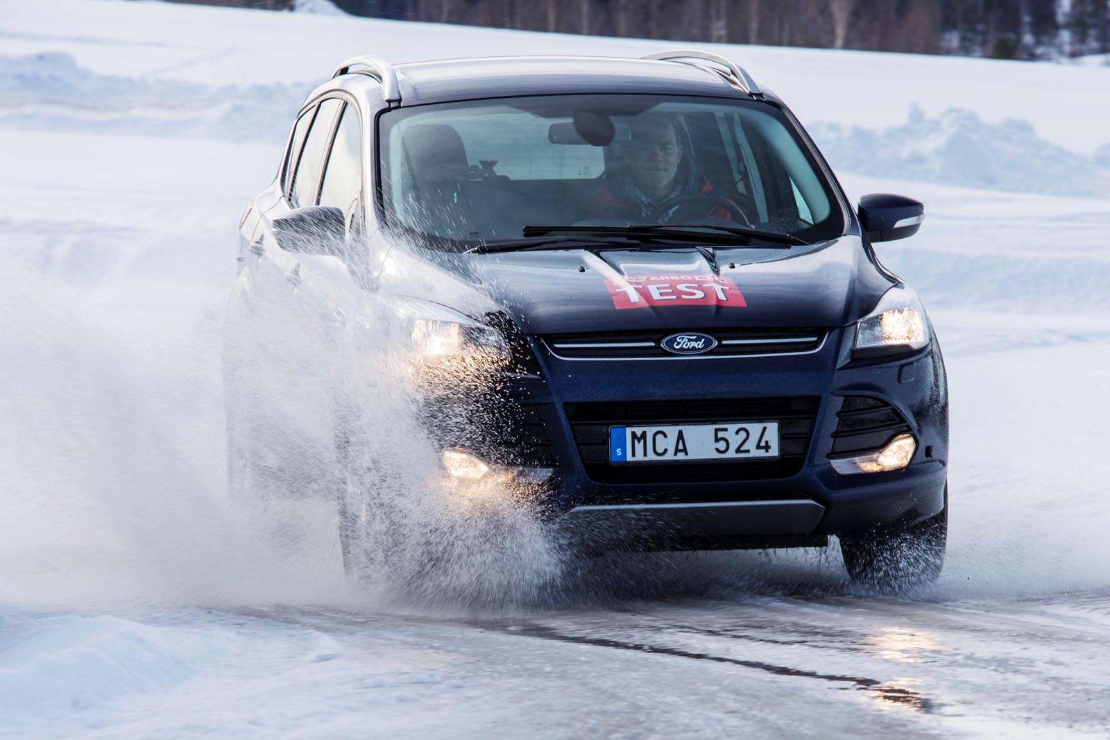
<instances>
[{"instance_id":1,"label":"wet, icy road surface in the foreground before the SUV","mask_svg":"<svg viewBox=\"0 0 1110 740\"><path fill-rule=\"evenodd\" d=\"M686 596L496 620L297 607L7 619L0 708L34 733L1066 737L1110 723L1106 594Z\"/></svg>"}]
</instances>

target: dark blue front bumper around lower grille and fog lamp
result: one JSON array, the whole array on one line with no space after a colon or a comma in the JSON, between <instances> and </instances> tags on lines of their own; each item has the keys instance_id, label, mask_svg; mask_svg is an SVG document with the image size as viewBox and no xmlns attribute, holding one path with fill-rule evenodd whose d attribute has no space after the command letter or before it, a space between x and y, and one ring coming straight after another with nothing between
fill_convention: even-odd
<instances>
[{"instance_id":1,"label":"dark blue front bumper around lower grille and fog lamp","mask_svg":"<svg viewBox=\"0 0 1110 740\"><path fill-rule=\"evenodd\" d=\"M572 530L622 533L649 549L820 544L829 534L938 513L945 506L948 399L936 341L910 357L856 362L845 333L830 332L817 353L700 361L574 361L533 341L543 376L517 377L507 392L543 422L554 468L545 508ZM660 399L704 404L797 397L817 399L804 458L796 471L761 479L744 472L749 463L735 463L736 474L724 479L702 474L684 481L672 469L657 481L604 482L596 463L591 474L584 462L566 412L614 401L633 408ZM848 397L882 401L902 417L917 442L906 469L858 474L833 469L838 412ZM688 469L694 471L693 464Z\"/></svg>"}]
</instances>

